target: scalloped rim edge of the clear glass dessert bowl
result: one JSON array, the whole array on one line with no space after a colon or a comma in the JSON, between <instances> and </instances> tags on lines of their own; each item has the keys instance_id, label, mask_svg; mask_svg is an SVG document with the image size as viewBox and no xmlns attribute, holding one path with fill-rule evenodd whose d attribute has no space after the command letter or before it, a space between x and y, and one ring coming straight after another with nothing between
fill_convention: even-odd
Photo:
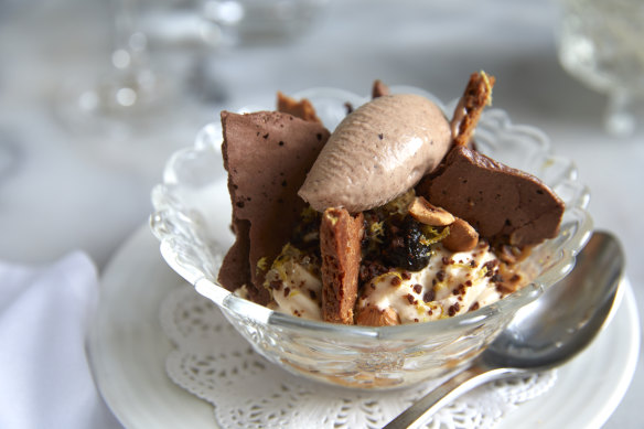
<instances>
[{"instance_id":1,"label":"scalloped rim edge of the clear glass dessert bowl","mask_svg":"<svg viewBox=\"0 0 644 429\"><path fill-rule=\"evenodd\" d=\"M422 95L433 103L436 103L443 111L453 110L455 107L458 99L452 100L448 105L443 104L439 98L437 98L433 94L426 92L425 89L417 88L414 86L407 85L393 85L390 86L393 93L414 93ZM340 88L331 88L331 87L313 87L309 89L304 89L292 95L294 98L316 98L316 97L326 97L326 98L335 98L339 100L346 100L348 103L355 103L356 105L361 105L368 100L367 97L361 97L354 93L340 89ZM261 106L247 106L245 108L240 108L237 111L239 112L247 112L247 111L255 111L266 107ZM490 109L489 111L496 111L497 114L503 114L509 121L509 118L505 110L503 109ZM528 125L515 125L509 122L514 129L520 130L528 130L534 135L540 136L540 140L544 142L549 142L546 135L538 128L528 126ZM213 122L204 126L202 130L198 132L201 136L205 129L212 127ZM216 128L216 127L215 127ZM198 140L198 138L197 138ZM546 143L546 150L549 152L549 144ZM204 150L205 148L202 146L201 148L196 148L195 146L190 148L184 148L183 150ZM218 148L214 148L218 150ZM550 154L550 153L548 153ZM172 157L171 157L172 159ZM164 172L164 178L168 176L168 169L171 168L172 162L169 161L167 164L167 170ZM571 163L571 170L576 172L573 164ZM588 195L588 190L584 189L584 194ZM205 276L201 278L194 278L193 274L189 272L181 262L179 262L175 258L174 250L172 246L168 242L167 238L161 238L161 254L165 261L176 271L179 272L184 279L192 280L195 290L215 302L217 305L230 311L240 317L247 318L253 320L255 323L258 324L270 324L271 326L280 326L286 329L296 329L301 331L312 331L316 333L324 333L324 334L337 334L342 339L346 339L347 335L350 336L359 336L359 337L369 337L369 339L400 339L406 336L416 336L418 334L427 335L431 334L432 331L436 332L444 332L453 329L463 329L470 325L474 325L490 319L494 315L501 314L513 314L520 308L526 307L534 300L536 300L545 290L545 288L551 286L557 280L564 278L575 266L575 258L577 253L586 245L590 235L592 233L592 219L590 218L589 213L586 211L586 205L588 204L588 197L584 199L586 201L582 203L581 206L570 207L571 210L581 210L582 219L580 222L580 226L577 229L575 236L570 237L565 245L559 249L561 253L559 260L550 267L548 270L543 272L540 276L535 278L530 283L526 285L520 290L505 297L504 299L494 302L492 304L482 307L475 311L470 311L457 317L447 318L447 319L439 319L430 322L421 322L421 323L407 323L394 326L362 326L362 325L344 325L344 324L336 324L336 323L329 323L323 321L315 321L310 319L302 319L297 318L287 313L282 313L276 310L271 310L267 307L257 304L253 301L246 300L242 297L238 297L234 292L228 291L224 287L219 286L216 281L212 281L207 279ZM569 207L567 207L569 210ZM153 214L154 215L154 214ZM153 216L152 215L152 216ZM192 279L191 279L192 278Z\"/></svg>"}]
</instances>

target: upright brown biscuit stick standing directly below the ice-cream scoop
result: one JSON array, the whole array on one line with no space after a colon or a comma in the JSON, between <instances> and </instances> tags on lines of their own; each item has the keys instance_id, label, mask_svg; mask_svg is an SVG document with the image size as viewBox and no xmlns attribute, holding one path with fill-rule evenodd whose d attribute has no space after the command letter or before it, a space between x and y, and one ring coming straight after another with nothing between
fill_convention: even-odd
<instances>
[{"instance_id":1,"label":"upright brown biscuit stick standing directly below the ice-cream scoop","mask_svg":"<svg viewBox=\"0 0 644 429\"><path fill-rule=\"evenodd\" d=\"M354 323L363 222L362 213L352 216L344 208L326 208L322 215L322 317L326 322Z\"/></svg>"}]
</instances>

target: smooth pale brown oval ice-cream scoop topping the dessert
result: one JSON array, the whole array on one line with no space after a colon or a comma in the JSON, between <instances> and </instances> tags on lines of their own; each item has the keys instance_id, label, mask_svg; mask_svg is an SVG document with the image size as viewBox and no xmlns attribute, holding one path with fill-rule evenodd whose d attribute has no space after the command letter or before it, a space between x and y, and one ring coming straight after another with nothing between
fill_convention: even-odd
<instances>
[{"instance_id":1,"label":"smooth pale brown oval ice-cream scoop topping the dessert","mask_svg":"<svg viewBox=\"0 0 644 429\"><path fill-rule=\"evenodd\" d=\"M337 126L299 195L316 211L357 213L380 206L416 185L451 144L441 109L419 95L382 96Z\"/></svg>"}]
</instances>

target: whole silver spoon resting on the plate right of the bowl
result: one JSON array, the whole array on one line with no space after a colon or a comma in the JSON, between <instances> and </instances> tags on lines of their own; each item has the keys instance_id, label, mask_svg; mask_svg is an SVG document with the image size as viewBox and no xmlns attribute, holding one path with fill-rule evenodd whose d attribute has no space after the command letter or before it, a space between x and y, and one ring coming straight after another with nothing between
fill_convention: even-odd
<instances>
[{"instance_id":1,"label":"whole silver spoon resting on the plate right of the bowl","mask_svg":"<svg viewBox=\"0 0 644 429\"><path fill-rule=\"evenodd\" d=\"M519 311L471 367L427 394L384 429L417 428L476 386L569 361L592 342L609 319L623 270L619 242L595 232L577 256L575 269Z\"/></svg>"}]
</instances>

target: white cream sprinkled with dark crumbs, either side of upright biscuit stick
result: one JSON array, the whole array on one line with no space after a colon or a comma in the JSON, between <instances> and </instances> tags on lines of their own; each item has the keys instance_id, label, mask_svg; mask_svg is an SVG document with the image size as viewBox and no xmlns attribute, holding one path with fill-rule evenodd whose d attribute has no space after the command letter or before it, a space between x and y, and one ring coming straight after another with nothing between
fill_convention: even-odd
<instances>
[{"instance_id":1,"label":"white cream sprinkled with dark crumbs, either side of upright biscuit stick","mask_svg":"<svg viewBox=\"0 0 644 429\"><path fill-rule=\"evenodd\" d=\"M414 272L395 269L368 281L361 290L356 312L368 307L391 309L400 323L462 314L503 298L494 282L498 265L484 243L460 253L438 244L426 268ZM287 245L266 278L273 298L271 309L322 320L322 280L310 257Z\"/></svg>"}]
</instances>

